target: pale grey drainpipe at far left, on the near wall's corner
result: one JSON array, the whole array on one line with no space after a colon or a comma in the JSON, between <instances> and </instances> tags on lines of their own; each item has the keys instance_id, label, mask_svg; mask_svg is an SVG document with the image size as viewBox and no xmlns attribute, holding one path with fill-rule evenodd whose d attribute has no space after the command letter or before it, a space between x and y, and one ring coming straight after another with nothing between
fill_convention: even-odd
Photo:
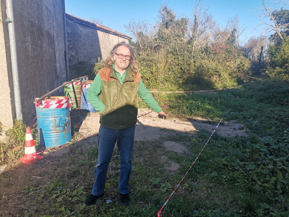
<instances>
[{"instance_id":1,"label":"pale grey drainpipe at far left, on the near wall's corner","mask_svg":"<svg viewBox=\"0 0 289 217\"><path fill-rule=\"evenodd\" d=\"M9 31L10 56L11 56L11 67L12 67L12 77L13 77L15 112L16 112L16 118L23 120L12 0L6 0L6 14L7 14L7 18L12 21L12 22L8 22L8 31Z\"/></svg>"}]
</instances>

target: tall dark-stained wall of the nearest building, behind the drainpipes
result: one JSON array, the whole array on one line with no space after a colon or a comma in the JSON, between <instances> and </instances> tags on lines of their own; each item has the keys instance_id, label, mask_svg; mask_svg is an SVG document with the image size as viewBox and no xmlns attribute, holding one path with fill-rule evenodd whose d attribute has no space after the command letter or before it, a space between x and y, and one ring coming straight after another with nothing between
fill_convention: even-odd
<instances>
[{"instance_id":1,"label":"tall dark-stained wall of the nearest building, behind the drainpipes","mask_svg":"<svg viewBox=\"0 0 289 217\"><path fill-rule=\"evenodd\" d=\"M2 19L7 18L3 13L5 1L8 0L1 0ZM36 117L34 98L45 95L66 81L63 5L62 0L21 0L12 3L23 122L28 124ZM1 25L3 25L5 45L6 43L9 45L7 26L10 23L2 22ZM0 32L0 36L3 32ZM3 56L2 40L3 38L0 37L0 55ZM5 47L5 50L6 59L9 59L8 47ZM0 59L0 67L2 79L7 83L7 78L12 73L9 66L5 73L5 61L5 58ZM13 86L9 85L8 89L13 91ZM8 95L3 97L1 92L1 102ZM63 95L63 90L60 89L52 95ZM8 111L11 110L10 107L13 109L12 101L11 99L3 107ZM1 116L0 122L11 126L11 115Z\"/></svg>"}]
</instances>

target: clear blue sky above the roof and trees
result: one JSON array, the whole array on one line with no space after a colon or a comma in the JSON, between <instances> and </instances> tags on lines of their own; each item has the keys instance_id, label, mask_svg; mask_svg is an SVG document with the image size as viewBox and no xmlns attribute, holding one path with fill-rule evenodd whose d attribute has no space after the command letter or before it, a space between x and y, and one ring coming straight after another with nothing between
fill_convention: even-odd
<instances>
[{"instance_id":1,"label":"clear blue sky above the roof and trees","mask_svg":"<svg viewBox=\"0 0 289 217\"><path fill-rule=\"evenodd\" d=\"M160 5L167 4L173 9L177 16L190 17L192 5L195 1L182 0L146 0L146 1L99 1L99 0L65 0L66 13L89 20L92 17L103 21L102 25L112 28L129 36L124 24L129 23L129 19L135 21L148 20L154 25L158 20L158 10ZM240 36L241 40L247 41L251 36L259 36L263 32L264 26L258 26L261 0L202 0L203 6L208 6L209 12L221 25L225 26L230 17L238 15L239 26L246 27ZM266 2L270 4L270 1ZM288 6L284 7L288 8Z\"/></svg>"}]
</instances>

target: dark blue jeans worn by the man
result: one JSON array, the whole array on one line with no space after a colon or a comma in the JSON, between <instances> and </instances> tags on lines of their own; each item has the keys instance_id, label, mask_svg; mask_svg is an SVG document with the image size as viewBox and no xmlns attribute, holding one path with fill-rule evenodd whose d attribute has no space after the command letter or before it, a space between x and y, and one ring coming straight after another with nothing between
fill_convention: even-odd
<instances>
[{"instance_id":1,"label":"dark blue jeans worn by the man","mask_svg":"<svg viewBox=\"0 0 289 217\"><path fill-rule=\"evenodd\" d=\"M136 126L125 129L110 129L100 125L98 137L98 158L94 168L95 183L92 194L101 195L104 192L108 164L112 156L114 144L117 141L118 152L121 160L118 192L129 192L128 182L131 174L131 154L134 147L134 130Z\"/></svg>"}]
</instances>

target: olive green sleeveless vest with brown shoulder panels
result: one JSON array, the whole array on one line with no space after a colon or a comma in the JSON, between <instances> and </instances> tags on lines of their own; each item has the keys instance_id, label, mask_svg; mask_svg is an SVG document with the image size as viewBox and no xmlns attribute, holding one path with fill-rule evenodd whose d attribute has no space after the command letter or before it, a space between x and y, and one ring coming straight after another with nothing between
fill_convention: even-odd
<instances>
[{"instance_id":1,"label":"olive green sleeveless vest with brown shoulder panels","mask_svg":"<svg viewBox=\"0 0 289 217\"><path fill-rule=\"evenodd\" d=\"M106 106L100 114L100 124L112 129L134 126L138 115L140 74L134 77L129 67L121 85L112 67L101 69L98 73L101 79L99 99Z\"/></svg>"}]
</instances>

